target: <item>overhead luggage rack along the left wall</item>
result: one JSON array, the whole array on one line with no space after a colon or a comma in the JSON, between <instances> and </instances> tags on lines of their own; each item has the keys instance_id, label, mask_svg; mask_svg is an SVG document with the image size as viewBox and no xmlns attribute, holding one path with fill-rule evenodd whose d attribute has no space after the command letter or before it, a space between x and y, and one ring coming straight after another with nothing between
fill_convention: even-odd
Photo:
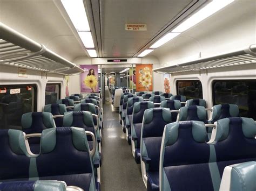
<instances>
[{"instance_id":1,"label":"overhead luggage rack along the left wall","mask_svg":"<svg viewBox=\"0 0 256 191\"><path fill-rule=\"evenodd\" d=\"M0 23L0 64L71 75L84 70L21 33Z\"/></svg>"}]
</instances>

